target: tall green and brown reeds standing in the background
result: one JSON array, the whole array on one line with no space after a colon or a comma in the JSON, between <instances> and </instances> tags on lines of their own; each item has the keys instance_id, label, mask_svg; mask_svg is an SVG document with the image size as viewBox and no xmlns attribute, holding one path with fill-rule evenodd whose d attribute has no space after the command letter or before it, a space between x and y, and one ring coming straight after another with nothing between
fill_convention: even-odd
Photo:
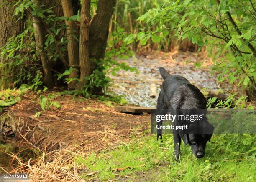
<instances>
[{"instance_id":1,"label":"tall green and brown reeds standing in the background","mask_svg":"<svg viewBox=\"0 0 256 182\"><path fill-rule=\"evenodd\" d=\"M127 34L140 31L156 30L156 25L136 21L138 17L145 14L149 9L154 8L154 0L117 0L112 20L110 22L110 32L116 31L117 26L123 28ZM175 30L174 30L175 31ZM174 32L161 42L154 43L151 40L145 46L138 42L133 42L130 46L135 52L150 52L151 50L164 50L165 52L178 50L197 50L197 46L188 40L177 40L172 37Z\"/></svg>"}]
</instances>

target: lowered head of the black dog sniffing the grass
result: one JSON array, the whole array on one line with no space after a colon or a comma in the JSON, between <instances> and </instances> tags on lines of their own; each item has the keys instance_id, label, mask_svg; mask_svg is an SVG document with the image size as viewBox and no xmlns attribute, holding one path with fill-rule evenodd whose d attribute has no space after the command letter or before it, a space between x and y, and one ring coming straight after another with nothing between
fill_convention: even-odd
<instances>
[{"instance_id":1,"label":"lowered head of the black dog sniffing the grass","mask_svg":"<svg viewBox=\"0 0 256 182\"><path fill-rule=\"evenodd\" d=\"M197 133L193 134L192 131L195 131L195 127ZM198 132L199 130L200 132ZM205 146L208 141L210 142L213 130L214 127L209 122L201 123L199 126L191 125L189 126L190 132L182 134L181 137L185 144L190 145L195 157L202 158L205 156Z\"/></svg>"}]
</instances>

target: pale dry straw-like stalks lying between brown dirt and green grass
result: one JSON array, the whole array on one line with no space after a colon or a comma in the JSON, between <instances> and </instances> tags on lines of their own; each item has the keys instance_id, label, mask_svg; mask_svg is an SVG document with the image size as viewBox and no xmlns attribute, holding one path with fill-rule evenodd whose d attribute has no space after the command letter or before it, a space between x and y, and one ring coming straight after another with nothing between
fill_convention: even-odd
<instances>
[{"instance_id":1,"label":"pale dry straw-like stalks lying between brown dirt and green grass","mask_svg":"<svg viewBox=\"0 0 256 182\"><path fill-rule=\"evenodd\" d=\"M138 134L140 130L137 131ZM88 167L75 163L77 157L86 158L91 152L101 152L102 150L112 150L117 145L129 141L132 130L105 130L92 133L85 141L75 147L56 149L48 153L41 154L35 160L28 162L21 160L16 154L10 153L19 165L10 173L29 173L30 179L37 181L80 181L80 175L93 176L98 172L90 172ZM81 180L83 181L83 180Z\"/></svg>"}]
</instances>

